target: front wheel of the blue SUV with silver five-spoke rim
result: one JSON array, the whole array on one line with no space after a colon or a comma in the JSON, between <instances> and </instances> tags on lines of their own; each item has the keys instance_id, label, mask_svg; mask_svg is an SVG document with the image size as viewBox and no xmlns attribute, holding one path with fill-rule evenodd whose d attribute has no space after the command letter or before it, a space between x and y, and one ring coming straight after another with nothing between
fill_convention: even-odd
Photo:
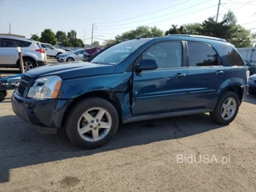
<instances>
[{"instance_id":1,"label":"front wheel of the blue SUV with silver five-spoke rim","mask_svg":"<svg viewBox=\"0 0 256 192\"><path fill-rule=\"evenodd\" d=\"M78 102L65 123L66 134L75 145L92 149L106 145L118 130L115 107L103 98L86 98Z\"/></svg>"}]
</instances>

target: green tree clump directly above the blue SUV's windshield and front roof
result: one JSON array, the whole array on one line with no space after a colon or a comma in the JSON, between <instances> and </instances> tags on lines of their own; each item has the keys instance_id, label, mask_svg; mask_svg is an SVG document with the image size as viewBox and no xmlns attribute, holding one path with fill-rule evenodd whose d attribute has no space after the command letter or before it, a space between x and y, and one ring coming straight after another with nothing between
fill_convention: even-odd
<instances>
[{"instance_id":1,"label":"green tree clump directly above the blue SUV's windshield and front roof","mask_svg":"<svg viewBox=\"0 0 256 192\"><path fill-rule=\"evenodd\" d=\"M117 42L134 38L155 38L162 36L162 30L159 30L156 26L138 26L136 30L129 30L121 35L117 35L115 40Z\"/></svg>"}]
</instances>

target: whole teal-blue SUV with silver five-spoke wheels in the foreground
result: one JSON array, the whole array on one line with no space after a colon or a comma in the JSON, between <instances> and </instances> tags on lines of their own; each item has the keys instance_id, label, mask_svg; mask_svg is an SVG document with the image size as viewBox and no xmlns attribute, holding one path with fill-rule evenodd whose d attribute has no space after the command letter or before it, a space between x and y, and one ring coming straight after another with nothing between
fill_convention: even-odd
<instances>
[{"instance_id":1,"label":"whole teal-blue SUV with silver five-spoke wheels in the foreground","mask_svg":"<svg viewBox=\"0 0 256 192\"><path fill-rule=\"evenodd\" d=\"M246 97L248 78L240 54L223 39L142 38L118 42L87 62L29 70L12 107L39 131L66 129L76 145L94 148L127 122L209 112L227 125Z\"/></svg>"}]
</instances>

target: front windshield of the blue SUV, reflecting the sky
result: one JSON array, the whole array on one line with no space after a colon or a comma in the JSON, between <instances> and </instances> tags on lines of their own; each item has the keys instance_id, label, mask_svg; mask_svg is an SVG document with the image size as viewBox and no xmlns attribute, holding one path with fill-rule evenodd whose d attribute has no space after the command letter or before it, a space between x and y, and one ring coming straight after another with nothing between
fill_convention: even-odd
<instances>
[{"instance_id":1,"label":"front windshield of the blue SUV, reflecting the sky","mask_svg":"<svg viewBox=\"0 0 256 192\"><path fill-rule=\"evenodd\" d=\"M101 54L98 54L90 62L116 65L132 54L134 50L137 50L139 46L142 46L148 41L150 41L150 39L134 39L126 42L120 42L103 51Z\"/></svg>"}]
</instances>

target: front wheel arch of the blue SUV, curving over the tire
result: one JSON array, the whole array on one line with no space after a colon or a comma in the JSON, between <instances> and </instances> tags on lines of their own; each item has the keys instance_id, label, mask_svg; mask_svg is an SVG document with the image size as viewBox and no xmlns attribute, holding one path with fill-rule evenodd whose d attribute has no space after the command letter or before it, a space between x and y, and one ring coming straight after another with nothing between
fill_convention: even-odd
<instances>
[{"instance_id":1,"label":"front wheel arch of the blue SUV, curving over the tire","mask_svg":"<svg viewBox=\"0 0 256 192\"><path fill-rule=\"evenodd\" d=\"M103 98L106 99L108 102L110 102L115 109L118 111L118 118L119 118L119 124L122 124L122 108L119 102L118 97L113 92L110 92L108 90L95 90L91 92L87 92L86 94L82 94L78 96L78 98L74 98L74 100L70 103L69 106L67 106L66 111L62 118L62 126L64 126L66 118L69 114L69 111L81 100L89 97L97 97L97 98Z\"/></svg>"}]
</instances>

